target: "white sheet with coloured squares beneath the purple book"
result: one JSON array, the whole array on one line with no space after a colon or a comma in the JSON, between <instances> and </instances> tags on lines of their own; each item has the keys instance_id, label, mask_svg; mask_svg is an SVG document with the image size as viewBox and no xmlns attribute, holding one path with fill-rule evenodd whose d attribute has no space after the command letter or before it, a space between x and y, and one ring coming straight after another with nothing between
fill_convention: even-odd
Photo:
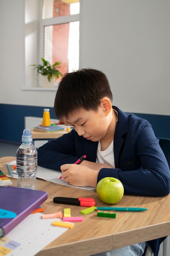
<instances>
[{"instance_id":1,"label":"white sheet with coloured squares beneath the purple book","mask_svg":"<svg viewBox=\"0 0 170 256\"><path fill-rule=\"evenodd\" d=\"M54 220L62 220L42 219L42 215L42 213L30 214L7 236L0 238L0 255L33 256L68 230L65 227L51 225Z\"/></svg>"}]
</instances>

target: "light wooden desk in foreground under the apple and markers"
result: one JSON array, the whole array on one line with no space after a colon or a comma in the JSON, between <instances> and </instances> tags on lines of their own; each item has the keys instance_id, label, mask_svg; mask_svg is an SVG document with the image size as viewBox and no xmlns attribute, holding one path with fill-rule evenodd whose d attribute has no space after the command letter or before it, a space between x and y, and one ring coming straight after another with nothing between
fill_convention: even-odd
<instances>
[{"instance_id":1,"label":"light wooden desk in foreground under the apple and markers","mask_svg":"<svg viewBox=\"0 0 170 256\"><path fill-rule=\"evenodd\" d=\"M8 173L6 163L15 157L0 159L0 168ZM16 180L12 179L13 186ZM65 197L92 197L97 206L107 206L99 200L96 192L84 191L59 184L53 184L38 179L38 190L48 192L48 199L42 204L43 213L55 213L64 208L71 208L72 216L83 216L84 221L75 223L73 229L68 229L64 234L46 246L36 256L89 256L126 245L132 245L170 234L170 195L166 197L141 197L124 195L116 206L144 207L144 212L117 212L115 219L97 217L96 212L82 215L80 210L85 207L55 204L55 196ZM51 220L52 223L52 220Z\"/></svg>"}]
</instances>

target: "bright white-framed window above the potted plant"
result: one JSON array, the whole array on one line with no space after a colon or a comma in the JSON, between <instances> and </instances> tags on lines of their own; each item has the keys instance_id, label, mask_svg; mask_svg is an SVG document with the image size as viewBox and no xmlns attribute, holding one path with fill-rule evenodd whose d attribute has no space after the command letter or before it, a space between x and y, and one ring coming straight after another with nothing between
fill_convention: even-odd
<instances>
[{"instance_id":1,"label":"bright white-framed window above the potted plant","mask_svg":"<svg viewBox=\"0 0 170 256\"><path fill-rule=\"evenodd\" d=\"M39 55L61 62L62 74L78 69L79 0L42 0Z\"/></svg>"}]
</instances>

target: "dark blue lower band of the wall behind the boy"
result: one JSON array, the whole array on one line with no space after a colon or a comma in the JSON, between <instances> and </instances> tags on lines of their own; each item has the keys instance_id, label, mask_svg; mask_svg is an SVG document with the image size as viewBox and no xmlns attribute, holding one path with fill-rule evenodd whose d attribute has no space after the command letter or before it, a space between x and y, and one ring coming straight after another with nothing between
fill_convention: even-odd
<instances>
[{"instance_id":1,"label":"dark blue lower band of the wall behind the boy","mask_svg":"<svg viewBox=\"0 0 170 256\"><path fill-rule=\"evenodd\" d=\"M24 117L42 117L44 108L50 109L50 117L56 118L53 108L0 104L0 141L20 144L24 130ZM130 113L128 113L130 114ZM133 113L150 122L156 137L170 139L170 116Z\"/></svg>"}]
</instances>

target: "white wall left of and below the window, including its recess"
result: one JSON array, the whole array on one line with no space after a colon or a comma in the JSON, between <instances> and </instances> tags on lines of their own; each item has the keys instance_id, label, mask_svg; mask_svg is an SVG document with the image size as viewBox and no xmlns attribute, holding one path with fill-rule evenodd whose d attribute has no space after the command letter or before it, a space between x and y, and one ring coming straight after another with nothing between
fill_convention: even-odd
<instances>
[{"instance_id":1,"label":"white wall left of and below the window, including its recess","mask_svg":"<svg viewBox=\"0 0 170 256\"><path fill-rule=\"evenodd\" d=\"M53 107L55 91L22 90L33 81L29 65L38 61L38 2L26 0L29 11L25 25L25 1L0 0L0 103ZM30 50L26 52L26 61L25 43ZM36 82L33 81L33 87Z\"/></svg>"}]
</instances>

